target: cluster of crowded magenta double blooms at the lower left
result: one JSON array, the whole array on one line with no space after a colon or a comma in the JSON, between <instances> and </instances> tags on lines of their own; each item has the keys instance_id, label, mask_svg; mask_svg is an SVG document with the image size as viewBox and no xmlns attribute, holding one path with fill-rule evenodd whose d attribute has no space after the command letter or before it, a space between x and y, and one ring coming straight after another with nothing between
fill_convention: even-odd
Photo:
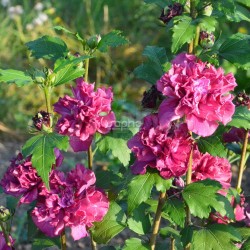
<instances>
[{"instance_id":1,"label":"cluster of crowded magenta double blooms at the lower left","mask_svg":"<svg viewBox=\"0 0 250 250\"><path fill-rule=\"evenodd\" d=\"M61 162L58 156L57 165ZM32 219L49 237L59 236L65 227L71 228L75 240L87 236L87 229L93 222L101 221L109 208L105 193L94 186L94 173L78 164L67 175L52 169L49 179L50 190L32 167L30 157L23 159L19 154L11 162L1 186L8 194L22 196L20 203L37 200Z\"/></svg>"}]
</instances>

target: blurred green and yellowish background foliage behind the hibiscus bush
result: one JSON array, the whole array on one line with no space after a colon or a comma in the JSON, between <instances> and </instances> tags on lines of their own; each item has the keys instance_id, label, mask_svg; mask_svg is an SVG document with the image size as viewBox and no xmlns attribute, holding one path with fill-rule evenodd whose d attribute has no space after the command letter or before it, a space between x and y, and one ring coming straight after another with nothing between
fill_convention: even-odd
<instances>
[{"instance_id":1,"label":"blurred green and yellowish background foliage behind the hibiscus bush","mask_svg":"<svg viewBox=\"0 0 250 250\"><path fill-rule=\"evenodd\" d=\"M90 82L113 86L117 115L124 111L135 116L141 113L140 100L149 88L146 82L135 79L133 75L133 70L144 60L144 47L157 45L170 51L171 34L159 20L160 14L159 7L147 5L143 0L0 0L0 68L42 68L45 62L29 57L25 43L43 35L58 36L73 53L80 52L79 43L69 35L55 31L53 26L56 25L78 32L85 38L103 35L113 29L121 30L130 44L112 49L107 54L100 53L92 59ZM219 22L216 36L235 32L249 34L248 24L246 21ZM249 90L249 70L237 69L228 62L222 64L226 72L236 75L239 89ZM74 83L57 87L53 101L70 93L71 85ZM0 105L0 123L24 135L31 117L45 109L42 91L34 85L18 88L1 83Z\"/></svg>"}]
</instances>

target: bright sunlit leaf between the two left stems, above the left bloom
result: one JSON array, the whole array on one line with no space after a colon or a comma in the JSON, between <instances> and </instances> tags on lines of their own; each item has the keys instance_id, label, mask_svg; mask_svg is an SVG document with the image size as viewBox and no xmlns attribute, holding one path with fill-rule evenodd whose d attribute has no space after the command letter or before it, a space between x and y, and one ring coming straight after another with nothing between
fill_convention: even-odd
<instances>
[{"instance_id":1,"label":"bright sunlit leaf between the two left stems, above the left bloom","mask_svg":"<svg viewBox=\"0 0 250 250\"><path fill-rule=\"evenodd\" d=\"M82 68L81 62L91 58L91 56L74 57L70 59L58 59L55 63L53 85L61 85L63 83L75 80L83 76L85 70Z\"/></svg>"}]
</instances>

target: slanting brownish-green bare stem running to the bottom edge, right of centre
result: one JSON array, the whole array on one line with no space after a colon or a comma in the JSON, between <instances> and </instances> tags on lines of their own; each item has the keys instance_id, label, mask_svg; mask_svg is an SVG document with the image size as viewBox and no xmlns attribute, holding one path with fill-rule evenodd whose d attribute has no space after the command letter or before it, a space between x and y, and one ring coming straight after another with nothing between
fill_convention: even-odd
<instances>
[{"instance_id":1,"label":"slanting brownish-green bare stem running to the bottom edge, right of centre","mask_svg":"<svg viewBox=\"0 0 250 250\"><path fill-rule=\"evenodd\" d=\"M160 228L160 223L161 223L162 208L165 204L166 199L167 199L167 193L160 192L158 206L157 206L156 213L155 213L155 220L154 220L154 224L153 224L153 231L152 231L152 235L150 238L151 250L155 249L156 238L157 238L159 228Z\"/></svg>"}]
</instances>

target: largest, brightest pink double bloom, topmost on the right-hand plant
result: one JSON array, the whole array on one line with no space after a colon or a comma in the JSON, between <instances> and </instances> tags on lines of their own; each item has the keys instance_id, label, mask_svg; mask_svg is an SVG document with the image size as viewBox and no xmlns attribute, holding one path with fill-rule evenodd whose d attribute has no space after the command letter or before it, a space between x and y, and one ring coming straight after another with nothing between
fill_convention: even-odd
<instances>
[{"instance_id":1,"label":"largest, brightest pink double bloom, topmost on the right-hand plant","mask_svg":"<svg viewBox=\"0 0 250 250\"><path fill-rule=\"evenodd\" d=\"M171 69L157 82L167 97L159 108L160 124L185 117L188 129L200 136L209 136L218 122L227 124L234 113L233 96L236 86L233 74L224 75L222 68L199 61L194 55L179 54Z\"/></svg>"}]
</instances>

